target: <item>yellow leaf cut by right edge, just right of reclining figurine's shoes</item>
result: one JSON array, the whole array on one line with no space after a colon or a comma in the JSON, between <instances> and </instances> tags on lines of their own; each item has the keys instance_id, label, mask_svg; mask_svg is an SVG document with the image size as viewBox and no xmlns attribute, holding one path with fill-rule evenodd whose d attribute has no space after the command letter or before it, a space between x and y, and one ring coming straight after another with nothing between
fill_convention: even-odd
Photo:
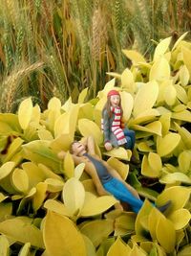
<instances>
[{"instance_id":1,"label":"yellow leaf cut by right edge, just right of reclining figurine's shoes","mask_svg":"<svg viewBox=\"0 0 191 256\"><path fill-rule=\"evenodd\" d=\"M175 230L180 230L189 223L191 214L187 209L179 209L169 215L168 219L173 222Z\"/></svg>"}]
</instances>

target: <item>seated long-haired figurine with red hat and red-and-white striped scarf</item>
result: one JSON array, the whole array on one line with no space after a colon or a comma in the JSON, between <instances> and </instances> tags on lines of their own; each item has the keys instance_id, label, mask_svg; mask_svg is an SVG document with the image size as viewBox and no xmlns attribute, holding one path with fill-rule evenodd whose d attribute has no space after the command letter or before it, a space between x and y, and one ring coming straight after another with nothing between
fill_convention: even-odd
<instances>
[{"instance_id":1,"label":"seated long-haired figurine with red hat and red-and-white striped scarf","mask_svg":"<svg viewBox=\"0 0 191 256\"><path fill-rule=\"evenodd\" d=\"M136 143L134 130L124 127L122 123L122 107L119 92L111 90L107 95L106 105L102 110L101 126L104 134L106 151L111 151L119 146L133 151Z\"/></svg>"}]
</instances>

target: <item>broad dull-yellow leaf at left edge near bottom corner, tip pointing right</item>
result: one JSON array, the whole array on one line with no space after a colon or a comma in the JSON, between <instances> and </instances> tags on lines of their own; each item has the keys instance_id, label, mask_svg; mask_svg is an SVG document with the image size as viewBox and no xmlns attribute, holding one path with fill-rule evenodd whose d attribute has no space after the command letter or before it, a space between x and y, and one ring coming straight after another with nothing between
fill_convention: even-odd
<instances>
[{"instance_id":1,"label":"broad dull-yellow leaf at left edge near bottom corner, tip pointing right","mask_svg":"<svg viewBox=\"0 0 191 256\"><path fill-rule=\"evenodd\" d=\"M30 219L13 218L0 222L0 232L20 243L31 243L32 246L44 248L42 232Z\"/></svg>"}]
</instances>

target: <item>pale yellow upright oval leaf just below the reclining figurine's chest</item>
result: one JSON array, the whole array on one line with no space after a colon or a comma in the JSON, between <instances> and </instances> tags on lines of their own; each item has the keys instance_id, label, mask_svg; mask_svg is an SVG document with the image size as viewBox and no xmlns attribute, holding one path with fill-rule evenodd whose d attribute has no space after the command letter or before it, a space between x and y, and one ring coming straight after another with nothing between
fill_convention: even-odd
<instances>
[{"instance_id":1,"label":"pale yellow upright oval leaf just below the reclining figurine's chest","mask_svg":"<svg viewBox=\"0 0 191 256\"><path fill-rule=\"evenodd\" d=\"M68 179L62 191L62 198L71 215L78 215L85 200L85 190L82 183L75 177Z\"/></svg>"}]
</instances>

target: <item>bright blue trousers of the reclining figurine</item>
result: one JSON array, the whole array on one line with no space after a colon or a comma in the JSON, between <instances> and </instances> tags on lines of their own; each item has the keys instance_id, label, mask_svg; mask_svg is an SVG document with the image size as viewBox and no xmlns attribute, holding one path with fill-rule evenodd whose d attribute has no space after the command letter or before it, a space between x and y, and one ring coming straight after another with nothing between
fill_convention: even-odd
<instances>
[{"instance_id":1,"label":"bright blue trousers of the reclining figurine","mask_svg":"<svg viewBox=\"0 0 191 256\"><path fill-rule=\"evenodd\" d=\"M113 177L106 183L103 183L103 187L118 200L127 202L133 211L138 213L143 201L136 198L119 179Z\"/></svg>"}]
</instances>

